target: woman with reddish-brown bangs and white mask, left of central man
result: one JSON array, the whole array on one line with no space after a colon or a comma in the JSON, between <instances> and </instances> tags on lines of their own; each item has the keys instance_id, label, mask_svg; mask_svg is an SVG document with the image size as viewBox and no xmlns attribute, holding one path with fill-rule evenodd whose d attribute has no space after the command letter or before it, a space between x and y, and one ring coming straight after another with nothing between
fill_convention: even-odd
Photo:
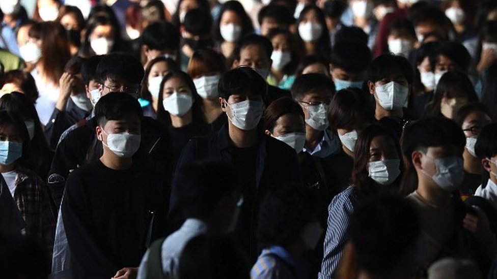
<instances>
[{"instance_id":1,"label":"woman with reddish-brown bangs and white mask, left of central man","mask_svg":"<svg viewBox=\"0 0 497 279\"><path fill-rule=\"evenodd\" d=\"M213 131L219 130L228 120L219 106L217 84L226 72L226 63L222 54L211 49L194 52L188 63L188 75L193 79L197 94L202 102L199 105L205 120Z\"/></svg>"}]
</instances>

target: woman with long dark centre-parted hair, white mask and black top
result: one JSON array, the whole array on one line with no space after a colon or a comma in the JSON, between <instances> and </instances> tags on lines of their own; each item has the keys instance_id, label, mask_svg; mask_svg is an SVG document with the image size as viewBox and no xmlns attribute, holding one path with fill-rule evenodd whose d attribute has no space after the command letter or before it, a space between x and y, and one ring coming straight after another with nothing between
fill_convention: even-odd
<instances>
[{"instance_id":1,"label":"woman with long dark centre-parted hair, white mask and black top","mask_svg":"<svg viewBox=\"0 0 497 279\"><path fill-rule=\"evenodd\" d=\"M202 100L194 82L184 72L171 71L162 78L159 89L157 120L168 128L173 145L173 166L193 137L210 132L205 121Z\"/></svg>"}]
</instances>

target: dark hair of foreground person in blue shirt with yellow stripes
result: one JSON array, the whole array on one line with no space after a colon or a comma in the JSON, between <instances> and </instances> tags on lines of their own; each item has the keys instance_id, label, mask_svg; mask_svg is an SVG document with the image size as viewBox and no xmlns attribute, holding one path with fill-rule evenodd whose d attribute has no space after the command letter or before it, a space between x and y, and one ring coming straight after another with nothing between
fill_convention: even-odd
<instances>
[{"instance_id":1,"label":"dark hair of foreground person in blue shirt with yellow stripes","mask_svg":"<svg viewBox=\"0 0 497 279\"><path fill-rule=\"evenodd\" d=\"M262 201L257 227L260 248L288 248L299 239L306 225L316 218L316 194L300 184L283 184Z\"/></svg>"}]
</instances>

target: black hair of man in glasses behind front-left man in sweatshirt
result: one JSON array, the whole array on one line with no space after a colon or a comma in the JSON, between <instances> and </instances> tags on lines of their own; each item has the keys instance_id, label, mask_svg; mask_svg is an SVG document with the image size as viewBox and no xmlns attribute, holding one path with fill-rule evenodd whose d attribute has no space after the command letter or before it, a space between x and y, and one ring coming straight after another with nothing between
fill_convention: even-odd
<instances>
[{"instance_id":1,"label":"black hair of man in glasses behind front-left man in sweatshirt","mask_svg":"<svg viewBox=\"0 0 497 279\"><path fill-rule=\"evenodd\" d=\"M138 59L127 53L104 55L95 71L95 81L104 83L106 79L120 79L140 84L145 71Z\"/></svg>"}]
</instances>

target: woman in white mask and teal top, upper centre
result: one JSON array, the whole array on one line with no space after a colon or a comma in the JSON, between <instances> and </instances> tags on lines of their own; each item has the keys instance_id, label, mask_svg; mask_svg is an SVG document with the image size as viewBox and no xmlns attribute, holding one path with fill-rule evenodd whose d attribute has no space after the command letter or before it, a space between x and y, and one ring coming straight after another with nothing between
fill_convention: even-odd
<instances>
[{"instance_id":1,"label":"woman in white mask and teal top, upper centre","mask_svg":"<svg viewBox=\"0 0 497 279\"><path fill-rule=\"evenodd\" d=\"M272 43L271 71L267 77L269 85L290 90L295 80L295 71L300 63L297 42L293 34L284 29L270 29L267 35Z\"/></svg>"}]
</instances>

